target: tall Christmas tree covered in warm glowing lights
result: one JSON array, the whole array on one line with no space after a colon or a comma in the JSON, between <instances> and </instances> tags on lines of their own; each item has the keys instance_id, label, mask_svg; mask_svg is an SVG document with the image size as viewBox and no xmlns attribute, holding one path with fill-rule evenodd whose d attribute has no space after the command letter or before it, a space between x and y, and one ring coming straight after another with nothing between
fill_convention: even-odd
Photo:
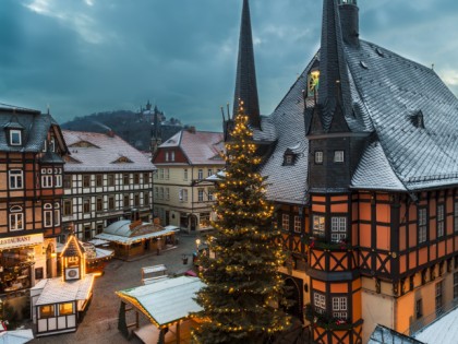
<instances>
[{"instance_id":1,"label":"tall Christmas tree covered in warm glowing lights","mask_svg":"<svg viewBox=\"0 0 458 344\"><path fill-rule=\"evenodd\" d=\"M201 258L206 287L197 296L204 322L193 334L196 343L264 343L289 324L280 307L285 257L252 140L241 104L226 144L226 177L217 185L216 235L208 245L215 258Z\"/></svg>"}]
</instances>

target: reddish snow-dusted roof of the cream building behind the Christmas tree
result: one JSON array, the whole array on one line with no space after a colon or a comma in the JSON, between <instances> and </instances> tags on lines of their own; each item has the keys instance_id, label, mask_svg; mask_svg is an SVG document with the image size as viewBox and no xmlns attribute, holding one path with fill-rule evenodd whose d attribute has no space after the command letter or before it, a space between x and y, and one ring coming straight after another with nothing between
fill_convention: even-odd
<instances>
[{"instance_id":1,"label":"reddish snow-dusted roof of the cream building behind the Christmas tree","mask_svg":"<svg viewBox=\"0 0 458 344\"><path fill-rule=\"evenodd\" d=\"M190 165L225 165L220 158L225 150L221 132L181 130L159 147L180 147Z\"/></svg>"}]
</instances>

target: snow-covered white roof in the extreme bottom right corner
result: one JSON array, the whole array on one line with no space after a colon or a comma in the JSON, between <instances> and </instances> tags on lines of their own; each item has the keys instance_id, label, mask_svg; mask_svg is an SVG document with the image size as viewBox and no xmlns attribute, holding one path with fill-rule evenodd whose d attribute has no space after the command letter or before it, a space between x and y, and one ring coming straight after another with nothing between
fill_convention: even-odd
<instances>
[{"instance_id":1,"label":"snow-covered white roof in the extreme bottom right corner","mask_svg":"<svg viewBox=\"0 0 458 344\"><path fill-rule=\"evenodd\" d=\"M413 336L425 344L456 344L458 341L458 308L438 318Z\"/></svg>"}]
</instances>

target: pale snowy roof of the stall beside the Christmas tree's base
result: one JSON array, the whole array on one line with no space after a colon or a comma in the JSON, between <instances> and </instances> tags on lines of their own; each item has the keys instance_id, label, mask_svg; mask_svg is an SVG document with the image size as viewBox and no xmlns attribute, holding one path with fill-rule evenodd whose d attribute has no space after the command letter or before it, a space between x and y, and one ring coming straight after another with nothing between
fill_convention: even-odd
<instances>
[{"instance_id":1,"label":"pale snowy roof of the stall beside the Christmas tree's base","mask_svg":"<svg viewBox=\"0 0 458 344\"><path fill-rule=\"evenodd\" d=\"M154 284L117 292L122 299L140 305L137 307L156 325L164 325L186 318L202 310L194 300L196 293L205 284L196 277L181 276Z\"/></svg>"}]
</instances>

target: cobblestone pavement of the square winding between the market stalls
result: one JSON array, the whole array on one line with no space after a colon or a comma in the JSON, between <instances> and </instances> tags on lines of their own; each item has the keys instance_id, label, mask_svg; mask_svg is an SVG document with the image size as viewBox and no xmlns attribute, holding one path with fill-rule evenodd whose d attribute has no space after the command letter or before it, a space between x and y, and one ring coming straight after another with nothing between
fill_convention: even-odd
<instances>
[{"instance_id":1,"label":"cobblestone pavement of the square winding between the market stalls","mask_svg":"<svg viewBox=\"0 0 458 344\"><path fill-rule=\"evenodd\" d=\"M114 294L141 285L141 268L165 264L169 275L182 274L192 269L192 253L195 251L195 235L179 234L177 248L164 251L160 256L143 257L138 260L125 262L111 260L105 269L105 274L95 280L94 296L83 322L75 333L45 336L32 341L32 344L122 344L141 343L136 337L125 340L118 331L118 312L120 298ZM186 254L189 262L183 264L182 254ZM147 324L146 317L140 315L140 322Z\"/></svg>"}]
</instances>

